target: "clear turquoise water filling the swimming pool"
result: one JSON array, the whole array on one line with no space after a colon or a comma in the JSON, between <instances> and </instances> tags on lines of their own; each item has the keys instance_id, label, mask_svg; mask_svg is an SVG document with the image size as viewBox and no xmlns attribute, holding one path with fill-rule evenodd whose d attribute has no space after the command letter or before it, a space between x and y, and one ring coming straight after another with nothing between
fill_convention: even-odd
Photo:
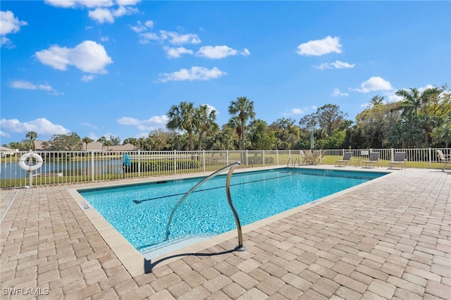
<instances>
[{"instance_id":1,"label":"clear turquoise water filling the swimming pool","mask_svg":"<svg viewBox=\"0 0 451 300\"><path fill-rule=\"evenodd\" d=\"M385 174L294 168L234 173L230 194L244 226ZM201 179L78 192L130 244L144 253L165 242L171 210ZM226 175L218 175L190 194L175 212L170 239L209 237L235 229L225 185Z\"/></svg>"}]
</instances>

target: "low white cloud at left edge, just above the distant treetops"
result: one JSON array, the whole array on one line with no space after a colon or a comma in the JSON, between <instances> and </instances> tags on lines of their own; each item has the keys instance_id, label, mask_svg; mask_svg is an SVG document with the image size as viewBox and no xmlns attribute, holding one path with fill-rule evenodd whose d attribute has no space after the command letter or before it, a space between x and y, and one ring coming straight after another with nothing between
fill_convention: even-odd
<instances>
[{"instance_id":1,"label":"low white cloud at left edge, just above the distant treetops","mask_svg":"<svg viewBox=\"0 0 451 300\"><path fill-rule=\"evenodd\" d=\"M11 132L30 132L34 131L38 135L66 135L70 130L61 125L52 124L46 118L38 118L30 122L20 122L18 119L1 119L0 127L2 130Z\"/></svg>"}]
</instances>

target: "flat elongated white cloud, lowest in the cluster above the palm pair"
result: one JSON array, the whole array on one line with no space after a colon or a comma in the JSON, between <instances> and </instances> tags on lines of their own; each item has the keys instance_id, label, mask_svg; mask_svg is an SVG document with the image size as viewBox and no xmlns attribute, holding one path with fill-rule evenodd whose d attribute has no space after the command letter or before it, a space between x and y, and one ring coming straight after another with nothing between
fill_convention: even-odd
<instances>
[{"instance_id":1,"label":"flat elongated white cloud, lowest in the cluster above the palm pair","mask_svg":"<svg viewBox=\"0 0 451 300\"><path fill-rule=\"evenodd\" d=\"M212 69L202 68L202 67L191 67L190 70L181 69L174 73L163 73L159 74L159 82L168 81L185 81L185 80L211 80L214 78L219 78L222 75L227 75L226 72L219 70L214 67Z\"/></svg>"}]
</instances>

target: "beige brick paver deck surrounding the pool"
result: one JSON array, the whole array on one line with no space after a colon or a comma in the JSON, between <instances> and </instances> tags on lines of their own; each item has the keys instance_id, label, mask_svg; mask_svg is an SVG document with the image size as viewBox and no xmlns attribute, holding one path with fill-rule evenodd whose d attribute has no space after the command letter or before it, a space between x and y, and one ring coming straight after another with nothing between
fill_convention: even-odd
<instances>
[{"instance_id":1,"label":"beige brick paver deck surrounding the pool","mask_svg":"<svg viewBox=\"0 0 451 300\"><path fill-rule=\"evenodd\" d=\"M2 190L0 298L450 299L451 173L394 173L135 277L68 187Z\"/></svg>"}]
</instances>

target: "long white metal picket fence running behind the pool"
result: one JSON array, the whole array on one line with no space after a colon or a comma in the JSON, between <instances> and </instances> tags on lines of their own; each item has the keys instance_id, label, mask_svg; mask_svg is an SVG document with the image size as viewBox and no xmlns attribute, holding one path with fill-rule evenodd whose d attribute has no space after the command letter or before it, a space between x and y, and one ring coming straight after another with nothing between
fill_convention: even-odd
<instances>
[{"instance_id":1,"label":"long white metal picket fence running behind the pool","mask_svg":"<svg viewBox=\"0 0 451 300\"><path fill-rule=\"evenodd\" d=\"M369 153L379 153L379 166L388 167L395 152L406 152L407 168L442 168L437 149L324 149L314 150L315 163L334 165L345 152L352 152L351 165L360 166ZM440 149L451 154L451 149ZM27 151L0 151L1 188L35 185L68 185L81 182L121 180L123 178L159 177L186 173L214 172L240 161L239 168L283 166L304 161L302 150L259 151L35 151L42 165L31 174L20 168L19 161ZM123 165L123 155L130 165ZM28 161L30 162L30 161ZM33 164L33 162L31 162ZM30 182L30 180L32 180Z\"/></svg>"}]
</instances>

